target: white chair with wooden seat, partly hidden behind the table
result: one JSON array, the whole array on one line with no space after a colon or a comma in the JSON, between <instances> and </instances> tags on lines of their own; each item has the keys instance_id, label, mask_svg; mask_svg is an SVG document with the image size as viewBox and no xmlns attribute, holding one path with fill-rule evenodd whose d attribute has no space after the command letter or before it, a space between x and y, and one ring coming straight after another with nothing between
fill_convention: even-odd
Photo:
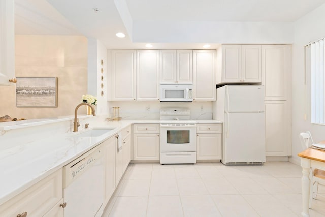
<instances>
[{"instance_id":1,"label":"white chair with wooden seat, partly hidden behind the table","mask_svg":"<svg viewBox=\"0 0 325 217\"><path fill-rule=\"evenodd\" d=\"M309 148L314 143L309 131L306 133L300 133L299 138L303 148ZM320 169L310 169L310 196L309 196L309 208L311 209L311 203L313 199L316 199L318 192L318 183L325 185L325 171Z\"/></svg>"}]
</instances>

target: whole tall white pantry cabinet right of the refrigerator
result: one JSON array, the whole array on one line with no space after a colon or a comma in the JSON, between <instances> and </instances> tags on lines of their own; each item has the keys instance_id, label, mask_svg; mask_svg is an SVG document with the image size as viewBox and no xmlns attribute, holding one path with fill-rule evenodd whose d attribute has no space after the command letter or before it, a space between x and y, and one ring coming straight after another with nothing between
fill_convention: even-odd
<instances>
[{"instance_id":1,"label":"whole tall white pantry cabinet right of the refrigerator","mask_svg":"<svg viewBox=\"0 0 325 217\"><path fill-rule=\"evenodd\" d=\"M291 46L262 45L266 156L291 155Z\"/></svg>"}]
</instances>

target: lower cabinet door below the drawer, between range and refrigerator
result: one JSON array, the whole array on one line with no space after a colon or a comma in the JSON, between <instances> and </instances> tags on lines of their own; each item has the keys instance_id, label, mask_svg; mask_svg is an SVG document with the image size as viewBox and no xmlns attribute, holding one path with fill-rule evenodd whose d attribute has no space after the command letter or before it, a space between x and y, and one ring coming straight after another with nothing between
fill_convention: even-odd
<instances>
[{"instance_id":1,"label":"lower cabinet door below the drawer, between range and refrigerator","mask_svg":"<svg viewBox=\"0 0 325 217\"><path fill-rule=\"evenodd\" d=\"M197 134L197 160L220 160L222 134Z\"/></svg>"}]
</instances>

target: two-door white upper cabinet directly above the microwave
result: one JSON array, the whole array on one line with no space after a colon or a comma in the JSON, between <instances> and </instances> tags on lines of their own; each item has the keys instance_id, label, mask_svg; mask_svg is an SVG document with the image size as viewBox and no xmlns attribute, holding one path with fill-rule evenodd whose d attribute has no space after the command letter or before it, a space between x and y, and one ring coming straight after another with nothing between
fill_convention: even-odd
<instances>
[{"instance_id":1,"label":"two-door white upper cabinet directly above the microwave","mask_svg":"<svg viewBox=\"0 0 325 217\"><path fill-rule=\"evenodd\" d=\"M160 83L192 84L192 51L160 51Z\"/></svg>"}]
</instances>

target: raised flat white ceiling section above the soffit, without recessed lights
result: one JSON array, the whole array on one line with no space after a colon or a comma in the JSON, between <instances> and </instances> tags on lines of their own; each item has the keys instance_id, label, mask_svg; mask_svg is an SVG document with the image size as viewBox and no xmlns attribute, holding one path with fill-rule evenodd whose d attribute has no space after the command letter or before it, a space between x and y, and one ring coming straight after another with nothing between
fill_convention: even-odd
<instances>
[{"instance_id":1,"label":"raised flat white ceiling section above the soffit, without recessed lights","mask_svg":"<svg viewBox=\"0 0 325 217\"><path fill-rule=\"evenodd\" d=\"M134 21L293 22L322 0L126 0Z\"/></svg>"}]
</instances>

